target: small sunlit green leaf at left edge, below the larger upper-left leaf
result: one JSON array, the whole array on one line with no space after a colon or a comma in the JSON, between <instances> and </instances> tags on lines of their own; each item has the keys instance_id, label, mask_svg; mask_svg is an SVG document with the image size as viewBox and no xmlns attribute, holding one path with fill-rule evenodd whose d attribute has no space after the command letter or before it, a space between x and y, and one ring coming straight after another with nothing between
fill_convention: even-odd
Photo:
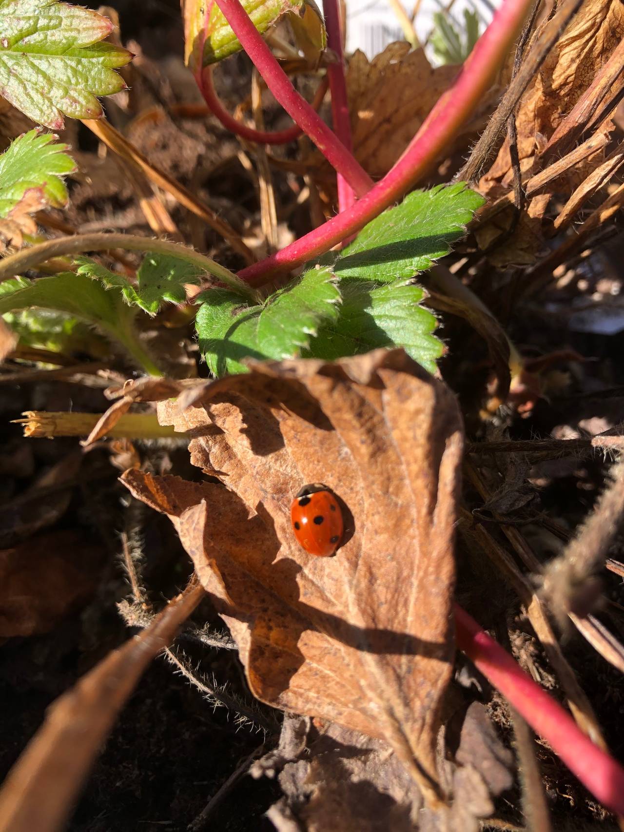
<instances>
[{"instance_id":1,"label":"small sunlit green leaf at left edge, below the larger upper-left leaf","mask_svg":"<svg viewBox=\"0 0 624 832\"><path fill-rule=\"evenodd\" d=\"M55 144L51 133L31 130L0 154L0 217L19 206L27 192L37 191L37 208L60 208L67 202L62 176L76 170L67 145Z\"/></svg>"}]
</instances>

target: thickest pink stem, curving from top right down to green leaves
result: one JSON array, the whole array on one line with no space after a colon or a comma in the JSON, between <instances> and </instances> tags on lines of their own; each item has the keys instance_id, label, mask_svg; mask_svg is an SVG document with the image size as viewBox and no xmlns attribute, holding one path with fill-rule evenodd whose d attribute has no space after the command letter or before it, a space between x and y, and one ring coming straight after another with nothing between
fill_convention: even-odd
<instances>
[{"instance_id":1,"label":"thickest pink stem, curving from top right down to green leaves","mask_svg":"<svg viewBox=\"0 0 624 832\"><path fill-rule=\"evenodd\" d=\"M243 269L239 273L240 277L256 283L294 269L355 234L404 196L418 177L438 159L457 134L458 128L482 101L503 58L508 55L531 5L532 0L504 0L463 64L453 87L438 100L404 155L372 191L361 197L354 206L295 240L285 249Z\"/></svg>"}]
</instances>

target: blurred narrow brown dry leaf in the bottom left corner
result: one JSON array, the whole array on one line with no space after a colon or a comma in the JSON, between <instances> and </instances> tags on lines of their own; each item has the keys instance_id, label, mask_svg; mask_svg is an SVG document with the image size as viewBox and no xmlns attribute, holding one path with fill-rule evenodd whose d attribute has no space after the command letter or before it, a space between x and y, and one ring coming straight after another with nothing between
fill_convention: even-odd
<instances>
[{"instance_id":1,"label":"blurred narrow brown dry leaf in the bottom left corner","mask_svg":"<svg viewBox=\"0 0 624 832\"><path fill-rule=\"evenodd\" d=\"M0 832L61 832L102 742L150 661L204 596L191 582L140 635L111 652L47 711L0 790Z\"/></svg>"}]
</instances>

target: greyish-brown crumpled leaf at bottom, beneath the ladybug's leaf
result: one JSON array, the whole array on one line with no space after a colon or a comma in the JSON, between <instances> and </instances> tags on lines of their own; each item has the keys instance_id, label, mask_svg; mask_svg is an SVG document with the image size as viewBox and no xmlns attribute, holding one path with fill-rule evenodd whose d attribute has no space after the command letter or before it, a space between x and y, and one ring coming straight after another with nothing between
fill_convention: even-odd
<instances>
[{"instance_id":1,"label":"greyish-brown crumpled leaf at bottom, beneath the ladybug's leaf","mask_svg":"<svg viewBox=\"0 0 624 832\"><path fill-rule=\"evenodd\" d=\"M513 785L513 754L483 705L474 702L458 716L458 745L449 747L443 737L438 745L438 766L453 793L450 809L423 806L414 780L382 740L318 721L310 726L300 717L286 717L279 748L250 774L279 774L284 797L267 813L278 832L476 832L478 819L493 812L490 794Z\"/></svg>"}]
</instances>

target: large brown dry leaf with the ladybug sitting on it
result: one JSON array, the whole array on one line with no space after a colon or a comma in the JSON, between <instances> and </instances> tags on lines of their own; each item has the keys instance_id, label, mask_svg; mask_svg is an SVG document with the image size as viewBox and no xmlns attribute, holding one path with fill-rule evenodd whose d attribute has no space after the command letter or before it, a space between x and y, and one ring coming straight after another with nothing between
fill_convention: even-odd
<instances>
[{"instance_id":1,"label":"large brown dry leaf with the ladybug sitting on it","mask_svg":"<svg viewBox=\"0 0 624 832\"><path fill-rule=\"evenodd\" d=\"M227 488L122 479L175 522L255 696L384 738L435 802L453 657L453 394L399 349L250 370L187 394L182 413L161 407ZM291 531L292 498L313 482L344 503L335 557L307 554Z\"/></svg>"}]
</instances>

